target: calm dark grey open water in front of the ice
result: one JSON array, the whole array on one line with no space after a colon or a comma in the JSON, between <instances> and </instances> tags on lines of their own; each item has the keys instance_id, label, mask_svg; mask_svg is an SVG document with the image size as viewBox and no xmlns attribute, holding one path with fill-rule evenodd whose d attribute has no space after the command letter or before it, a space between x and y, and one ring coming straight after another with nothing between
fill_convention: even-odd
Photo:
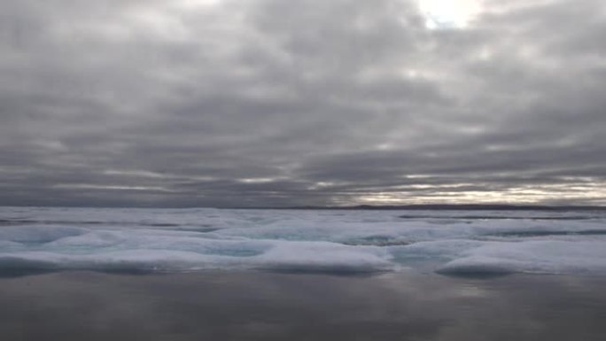
<instances>
[{"instance_id":1,"label":"calm dark grey open water in front of the ice","mask_svg":"<svg viewBox=\"0 0 606 341\"><path fill-rule=\"evenodd\" d=\"M0 279L2 340L582 340L604 277L58 272Z\"/></svg>"}]
</instances>

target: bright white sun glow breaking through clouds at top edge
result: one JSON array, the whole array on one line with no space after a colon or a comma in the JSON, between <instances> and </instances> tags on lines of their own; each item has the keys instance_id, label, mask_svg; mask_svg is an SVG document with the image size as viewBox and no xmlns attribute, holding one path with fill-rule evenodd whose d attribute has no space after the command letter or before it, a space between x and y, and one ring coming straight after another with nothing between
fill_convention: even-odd
<instances>
[{"instance_id":1,"label":"bright white sun glow breaking through clouds at top edge","mask_svg":"<svg viewBox=\"0 0 606 341\"><path fill-rule=\"evenodd\" d=\"M468 27L481 10L480 0L419 0L418 4L430 29Z\"/></svg>"}]
</instances>

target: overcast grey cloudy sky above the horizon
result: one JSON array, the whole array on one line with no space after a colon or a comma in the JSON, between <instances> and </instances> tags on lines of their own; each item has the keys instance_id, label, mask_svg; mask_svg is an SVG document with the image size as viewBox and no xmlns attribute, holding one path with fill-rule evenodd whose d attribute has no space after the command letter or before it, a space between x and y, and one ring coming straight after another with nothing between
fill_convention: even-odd
<instances>
[{"instance_id":1,"label":"overcast grey cloudy sky above the horizon","mask_svg":"<svg viewBox=\"0 0 606 341\"><path fill-rule=\"evenodd\" d=\"M602 0L3 0L0 205L606 205Z\"/></svg>"}]
</instances>

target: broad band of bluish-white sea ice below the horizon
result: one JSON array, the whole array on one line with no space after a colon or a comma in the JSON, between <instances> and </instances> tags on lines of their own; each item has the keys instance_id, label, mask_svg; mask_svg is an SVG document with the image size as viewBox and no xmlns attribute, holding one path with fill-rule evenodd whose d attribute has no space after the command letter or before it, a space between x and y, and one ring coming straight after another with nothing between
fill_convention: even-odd
<instances>
[{"instance_id":1,"label":"broad band of bluish-white sea ice below the horizon","mask_svg":"<svg viewBox=\"0 0 606 341\"><path fill-rule=\"evenodd\" d=\"M69 269L606 275L606 212L0 207L0 275Z\"/></svg>"}]
</instances>

